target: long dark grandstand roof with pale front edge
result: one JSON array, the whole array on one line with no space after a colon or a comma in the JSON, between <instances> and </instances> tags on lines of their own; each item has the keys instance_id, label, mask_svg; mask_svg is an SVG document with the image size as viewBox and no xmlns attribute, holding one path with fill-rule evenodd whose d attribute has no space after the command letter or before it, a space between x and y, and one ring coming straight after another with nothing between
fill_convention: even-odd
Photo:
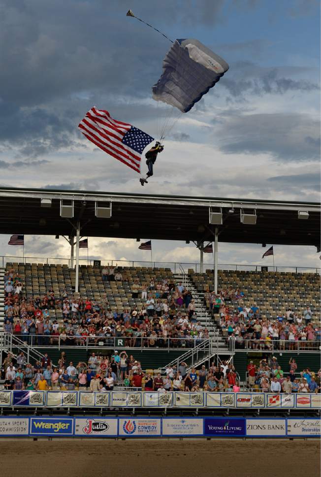
<instances>
[{"instance_id":1,"label":"long dark grandstand roof with pale front edge","mask_svg":"<svg viewBox=\"0 0 321 477\"><path fill-rule=\"evenodd\" d=\"M51 206L41 207L40 199L51 199ZM61 199L74 201L73 219L61 217ZM96 201L112 203L111 218L96 218ZM80 219L84 237L211 241L216 226L209 224L209 207L222 207L219 241L320 244L318 203L5 187L0 188L0 234L69 236ZM256 225L241 223L241 209L256 209ZM308 211L309 218L299 220L299 210Z\"/></svg>"}]
</instances>

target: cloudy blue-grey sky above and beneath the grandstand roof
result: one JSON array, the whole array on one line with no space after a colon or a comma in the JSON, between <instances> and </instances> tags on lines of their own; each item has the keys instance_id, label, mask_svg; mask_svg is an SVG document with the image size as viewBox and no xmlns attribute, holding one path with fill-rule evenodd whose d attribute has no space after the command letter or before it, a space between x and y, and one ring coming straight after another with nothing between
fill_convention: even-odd
<instances>
[{"instance_id":1,"label":"cloudy blue-grey sky above and beneath the grandstand roof","mask_svg":"<svg viewBox=\"0 0 321 477\"><path fill-rule=\"evenodd\" d=\"M147 191L77 130L93 105L154 137L164 121L151 86L170 43L128 8L230 66L166 137ZM320 201L318 0L0 0L0 64L2 186ZM7 241L1 254L20 254ZM63 238L26 237L25 248L69 254ZM199 259L182 242L153 248L157 261ZM275 252L279 265L320 267L315 247ZM93 238L90 255L149 260L124 239ZM270 265L261 255L259 245L220 244L219 262Z\"/></svg>"}]
</instances>

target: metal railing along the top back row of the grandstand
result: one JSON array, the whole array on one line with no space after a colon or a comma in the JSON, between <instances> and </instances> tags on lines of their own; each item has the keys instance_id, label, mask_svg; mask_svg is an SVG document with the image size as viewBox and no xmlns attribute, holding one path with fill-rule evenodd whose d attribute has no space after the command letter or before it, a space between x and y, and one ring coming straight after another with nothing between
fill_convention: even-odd
<instances>
[{"instance_id":1,"label":"metal railing along the top back row of the grandstand","mask_svg":"<svg viewBox=\"0 0 321 477\"><path fill-rule=\"evenodd\" d=\"M22 256L12 256L12 255L0 255L0 263L2 262L2 268L5 266L6 262L9 262L9 259L13 259L14 262L19 261L20 263L44 263L44 264L66 264L70 268L70 258L64 257L22 257ZM174 273L176 269L179 270L179 266L183 264L178 262L146 262L146 261L138 261L138 260L111 260L111 259L103 259L101 260L99 257L91 257L87 259L87 257L80 258L79 263L84 265L93 265L94 260L100 260L101 265L107 265L107 263L111 264L112 266L117 264L127 264L128 267L140 267L141 264L144 264L146 267L150 267L152 264L153 268L155 267L164 267L169 266ZM193 263L184 263L184 265L189 266L189 268L193 268L195 273L199 273L200 264L198 262ZM204 263L205 267L209 269L213 269L213 263ZM245 271L245 272L260 272L261 267L265 267L265 264L218 264L220 270L231 270L231 271ZM275 270L273 270L273 266L268 266L269 272L291 272L291 273L318 273L321 274L320 267L294 267L294 266L277 266Z\"/></svg>"}]
</instances>

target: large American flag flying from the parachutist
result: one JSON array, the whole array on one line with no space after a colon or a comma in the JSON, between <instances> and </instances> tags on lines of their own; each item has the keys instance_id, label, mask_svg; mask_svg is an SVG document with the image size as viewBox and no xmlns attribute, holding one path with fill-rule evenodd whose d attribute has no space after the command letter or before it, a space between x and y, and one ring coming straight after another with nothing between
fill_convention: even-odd
<instances>
[{"instance_id":1,"label":"large American flag flying from the parachutist","mask_svg":"<svg viewBox=\"0 0 321 477\"><path fill-rule=\"evenodd\" d=\"M92 107L78 128L83 135L126 166L140 172L141 154L154 140L140 129L113 119L108 111Z\"/></svg>"}]
</instances>

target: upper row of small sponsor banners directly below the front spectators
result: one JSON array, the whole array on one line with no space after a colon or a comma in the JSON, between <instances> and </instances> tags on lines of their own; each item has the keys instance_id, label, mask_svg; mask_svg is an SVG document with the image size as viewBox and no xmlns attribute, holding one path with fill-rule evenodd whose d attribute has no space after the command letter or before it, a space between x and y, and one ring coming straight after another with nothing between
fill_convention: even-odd
<instances>
[{"instance_id":1,"label":"upper row of small sponsor banners directly below the front spectators","mask_svg":"<svg viewBox=\"0 0 321 477\"><path fill-rule=\"evenodd\" d=\"M2 407L320 409L321 394L0 391Z\"/></svg>"}]
</instances>

